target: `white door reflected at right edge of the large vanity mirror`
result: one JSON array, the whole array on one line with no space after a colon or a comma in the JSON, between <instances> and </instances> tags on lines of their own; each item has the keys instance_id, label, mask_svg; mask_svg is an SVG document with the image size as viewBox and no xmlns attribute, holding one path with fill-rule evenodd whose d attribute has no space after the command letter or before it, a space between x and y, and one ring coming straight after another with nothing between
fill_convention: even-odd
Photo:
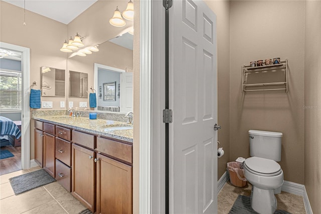
<instances>
[{"instance_id":1,"label":"white door reflected at right edge of the large vanity mirror","mask_svg":"<svg viewBox=\"0 0 321 214\"><path fill-rule=\"evenodd\" d=\"M120 112L132 112L133 110L133 72L120 73Z\"/></svg>"}]
</instances>

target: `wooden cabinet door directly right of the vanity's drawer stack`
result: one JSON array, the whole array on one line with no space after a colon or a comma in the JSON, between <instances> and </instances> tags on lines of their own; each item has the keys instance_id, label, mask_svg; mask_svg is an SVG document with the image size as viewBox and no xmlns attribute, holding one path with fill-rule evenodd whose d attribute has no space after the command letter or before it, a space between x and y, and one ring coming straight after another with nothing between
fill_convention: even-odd
<instances>
[{"instance_id":1,"label":"wooden cabinet door directly right of the vanity's drawer stack","mask_svg":"<svg viewBox=\"0 0 321 214\"><path fill-rule=\"evenodd\" d=\"M72 195L95 211L95 153L72 145Z\"/></svg>"}]
</instances>

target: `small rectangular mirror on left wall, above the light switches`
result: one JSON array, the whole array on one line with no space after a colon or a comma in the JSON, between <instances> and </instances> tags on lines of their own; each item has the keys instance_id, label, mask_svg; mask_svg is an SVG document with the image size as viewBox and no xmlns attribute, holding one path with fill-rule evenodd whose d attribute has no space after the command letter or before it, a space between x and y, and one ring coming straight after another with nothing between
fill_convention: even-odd
<instances>
[{"instance_id":1,"label":"small rectangular mirror on left wall, above the light switches","mask_svg":"<svg viewBox=\"0 0 321 214\"><path fill-rule=\"evenodd\" d=\"M41 67L41 95L65 96L65 70Z\"/></svg>"}]
</instances>

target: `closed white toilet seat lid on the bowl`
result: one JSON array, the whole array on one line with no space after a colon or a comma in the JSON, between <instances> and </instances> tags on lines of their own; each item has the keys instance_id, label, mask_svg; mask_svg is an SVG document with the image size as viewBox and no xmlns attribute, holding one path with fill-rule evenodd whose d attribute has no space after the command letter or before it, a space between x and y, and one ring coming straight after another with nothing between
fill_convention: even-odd
<instances>
[{"instance_id":1,"label":"closed white toilet seat lid on the bowl","mask_svg":"<svg viewBox=\"0 0 321 214\"><path fill-rule=\"evenodd\" d=\"M244 166L253 174L267 177L276 176L282 172L281 167L277 162L260 157L247 158L244 162Z\"/></svg>"}]
</instances>

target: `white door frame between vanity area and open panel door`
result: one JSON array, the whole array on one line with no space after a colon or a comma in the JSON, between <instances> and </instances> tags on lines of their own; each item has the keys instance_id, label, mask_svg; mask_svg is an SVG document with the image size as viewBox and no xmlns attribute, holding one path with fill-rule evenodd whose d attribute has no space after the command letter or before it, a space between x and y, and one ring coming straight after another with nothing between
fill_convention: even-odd
<instances>
[{"instance_id":1,"label":"white door frame between vanity area and open panel door","mask_svg":"<svg viewBox=\"0 0 321 214\"><path fill-rule=\"evenodd\" d=\"M165 8L163 1L140 1L139 39L139 213L165 213L165 124L163 124Z\"/></svg>"}]
</instances>

